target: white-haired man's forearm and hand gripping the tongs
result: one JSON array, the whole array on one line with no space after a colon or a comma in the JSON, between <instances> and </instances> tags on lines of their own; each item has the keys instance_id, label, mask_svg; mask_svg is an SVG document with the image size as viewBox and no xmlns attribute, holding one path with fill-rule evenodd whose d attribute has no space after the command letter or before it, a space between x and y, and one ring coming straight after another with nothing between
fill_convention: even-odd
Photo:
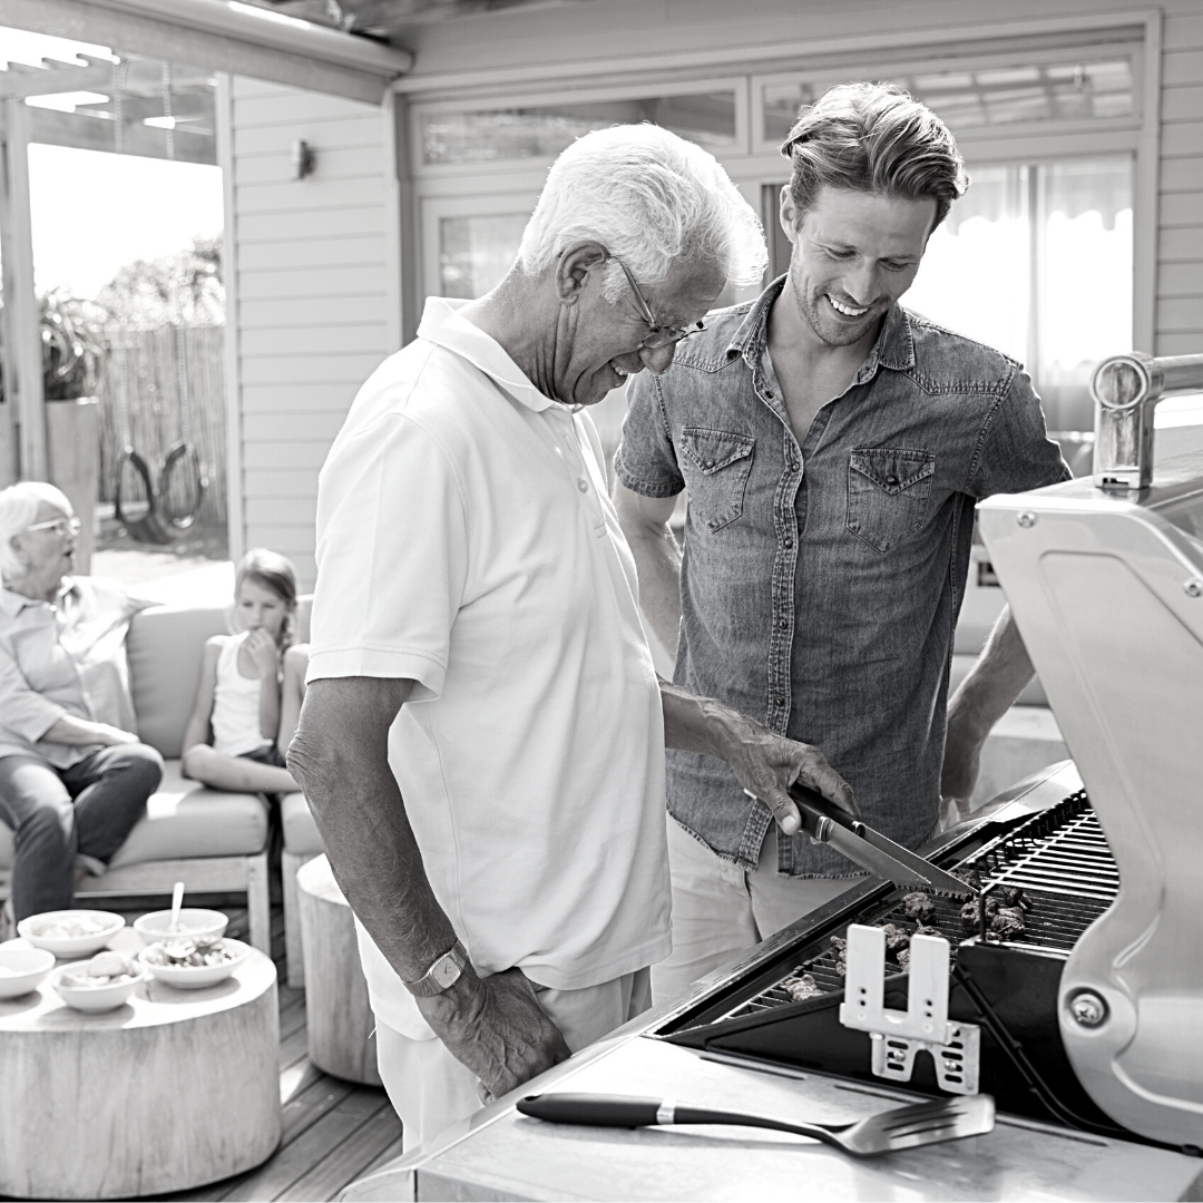
<instances>
[{"instance_id":1,"label":"white-haired man's forearm and hand gripping the tongs","mask_svg":"<svg viewBox=\"0 0 1203 1203\"><path fill-rule=\"evenodd\" d=\"M772 811L786 835L793 835L802 825L798 806L789 796L789 787L795 781L860 817L852 786L826 763L818 748L776 735L730 706L699 698L666 681L660 682L660 700L665 745L725 760L740 784Z\"/></svg>"}]
</instances>

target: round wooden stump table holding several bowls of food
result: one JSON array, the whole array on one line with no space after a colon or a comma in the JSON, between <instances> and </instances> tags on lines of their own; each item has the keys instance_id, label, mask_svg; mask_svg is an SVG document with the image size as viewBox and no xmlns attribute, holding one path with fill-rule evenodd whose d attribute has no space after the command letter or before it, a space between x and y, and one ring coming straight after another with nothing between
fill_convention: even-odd
<instances>
[{"instance_id":1,"label":"round wooden stump table holding several bowls of food","mask_svg":"<svg viewBox=\"0 0 1203 1203\"><path fill-rule=\"evenodd\" d=\"M125 928L109 947L135 956L142 940ZM0 1193L111 1199L229 1178L279 1144L279 1091L275 966L255 949L218 985L144 982L100 1015L47 979L0 1001Z\"/></svg>"}]
</instances>

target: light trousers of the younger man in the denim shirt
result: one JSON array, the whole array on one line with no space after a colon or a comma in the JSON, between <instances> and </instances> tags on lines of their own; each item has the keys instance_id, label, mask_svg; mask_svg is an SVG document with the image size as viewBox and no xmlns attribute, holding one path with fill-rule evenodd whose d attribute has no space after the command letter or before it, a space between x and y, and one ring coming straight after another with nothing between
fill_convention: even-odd
<instances>
[{"instance_id":1,"label":"light trousers of the younger man in the denim shirt","mask_svg":"<svg viewBox=\"0 0 1203 1203\"><path fill-rule=\"evenodd\" d=\"M671 814L668 822L672 955L652 966L657 1006L857 884L855 877L778 877L776 825L748 872L715 855Z\"/></svg>"}]
</instances>

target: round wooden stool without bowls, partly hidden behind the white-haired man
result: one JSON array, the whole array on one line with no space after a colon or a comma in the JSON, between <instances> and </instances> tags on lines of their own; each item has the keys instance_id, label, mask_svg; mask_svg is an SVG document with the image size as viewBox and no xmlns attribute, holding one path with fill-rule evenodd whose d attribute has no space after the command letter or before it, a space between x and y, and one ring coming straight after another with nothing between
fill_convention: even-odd
<instances>
[{"instance_id":1,"label":"round wooden stool without bowls, partly hidden behind the white-haired man","mask_svg":"<svg viewBox=\"0 0 1203 1203\"><path fill-rule=\"evenodd\" d=\"M325 857L297 870L297 901L309 1060L336 1078L379 1086L371 1038L375 1017L360 966L355 920Z\"/></svg>"}]
</instances>

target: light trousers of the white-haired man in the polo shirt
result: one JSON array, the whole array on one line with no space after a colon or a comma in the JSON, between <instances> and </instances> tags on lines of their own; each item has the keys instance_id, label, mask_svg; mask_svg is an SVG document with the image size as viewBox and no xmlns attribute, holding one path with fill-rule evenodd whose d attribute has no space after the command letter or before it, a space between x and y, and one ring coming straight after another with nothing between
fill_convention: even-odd
<instances>
[{"instance_id":1,"label":"light trousers of the white-haired man in the polo shirt","mask_svg":"<svg viewBox=\"0 0 1203 1203\"><path fill-rule=\"evenodd\" d=\"M646 968L585 990L535 990L540 1006L574 1053L647 1011L652 1002ZM389 1100L401 1116L403 1152L482 1106L480 1079L440 1039L410 1039L378 1023L377 1063Z\"/></svg>"}]
</instances>

